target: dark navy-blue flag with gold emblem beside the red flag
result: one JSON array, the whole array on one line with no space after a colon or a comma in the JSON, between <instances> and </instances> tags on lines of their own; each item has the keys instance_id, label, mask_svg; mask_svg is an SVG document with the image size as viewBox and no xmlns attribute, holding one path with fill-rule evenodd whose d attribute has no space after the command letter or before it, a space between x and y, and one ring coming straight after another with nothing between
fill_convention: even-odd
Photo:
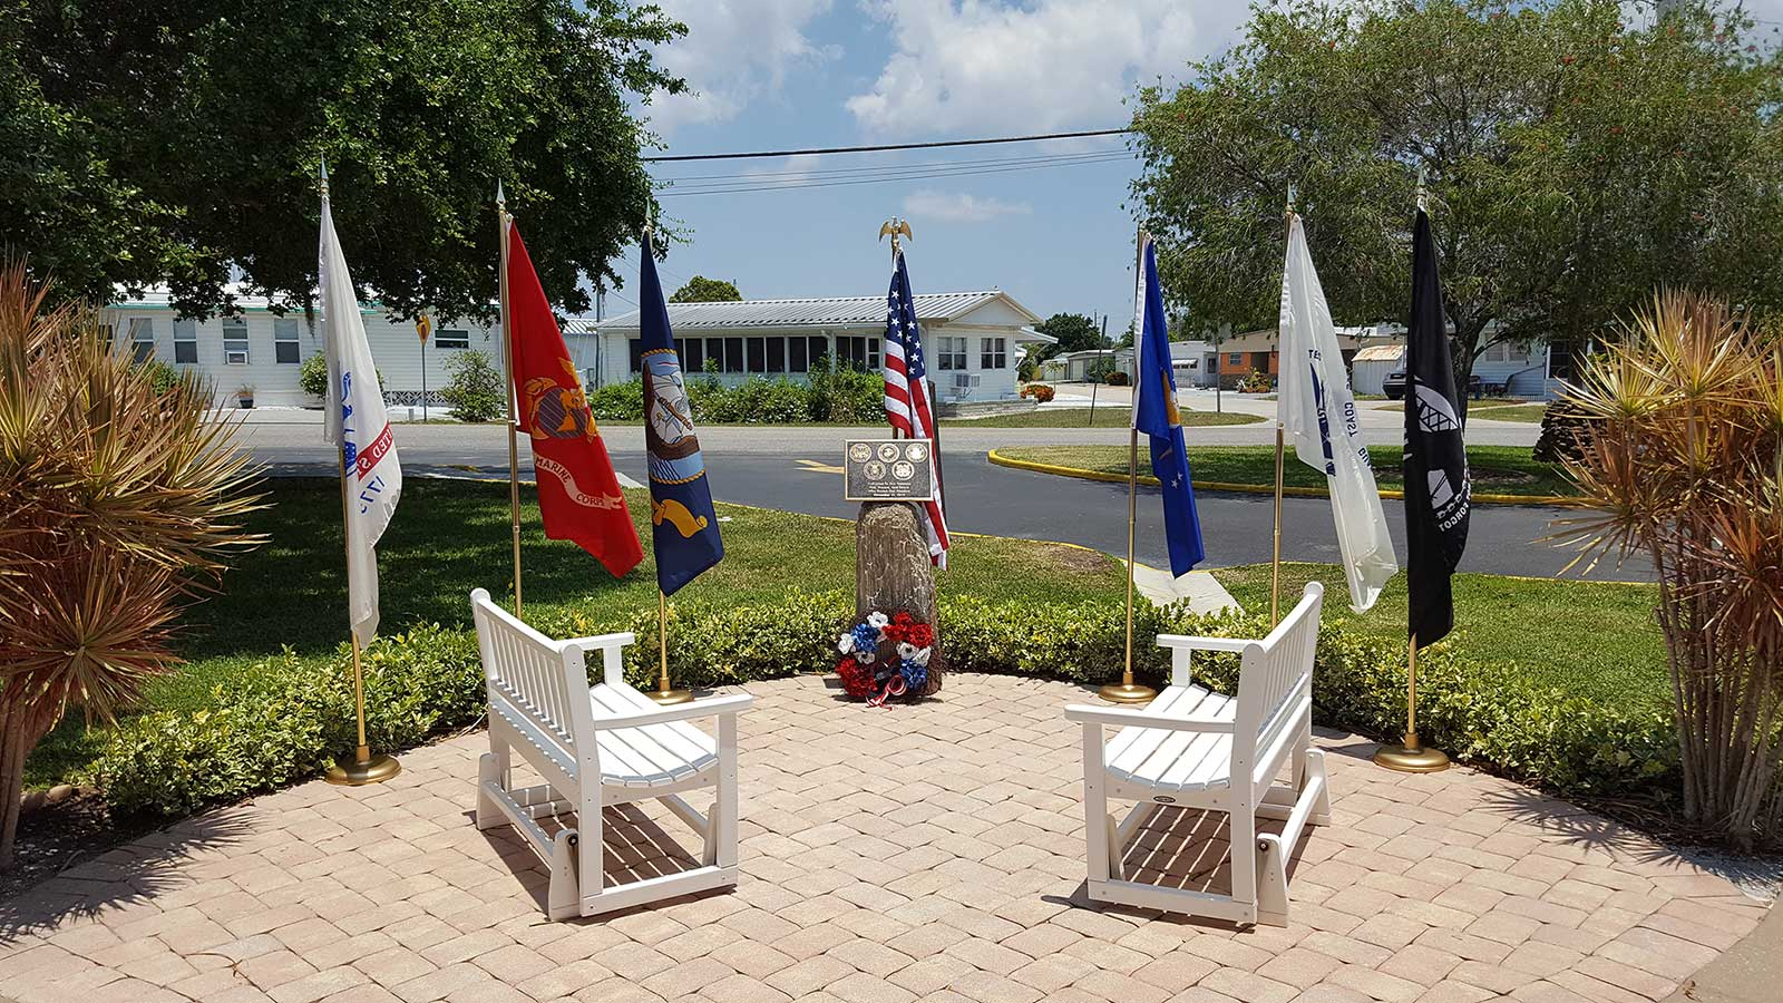
<instances>
[{"instance_id":1,"label":"dark navy-blue flag with gold emblem beside the red flag","mask_svg":"<svg viewBox=\"0 0 1783 1003\"><path fill-rule=\"evenodd\" d=\"M694 437L694 409L686 402L681 359L669 330L669 305L656 278L649 234L638 255L640 369L644 371L644 444L651 473L651 541L656 548L656 585L665 596L692 582L724 557L719 516L711 509L706 460Z\"/></svg>"}]
</instances>

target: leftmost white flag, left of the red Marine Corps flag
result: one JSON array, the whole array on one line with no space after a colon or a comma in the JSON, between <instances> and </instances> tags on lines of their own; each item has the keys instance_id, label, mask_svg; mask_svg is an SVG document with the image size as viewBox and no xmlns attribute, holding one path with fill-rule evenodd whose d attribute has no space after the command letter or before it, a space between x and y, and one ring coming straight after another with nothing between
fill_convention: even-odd
<instances>
[{"instance_id":1,"label":"leftmost white flag, left of the red Marine Corps flag","mask_svg":"<svg viewBox=\"0 0 1783 1003\"><path fill-rule=\"evenodd\" d=\"M326 175L325 175L326 178ZM403 493L403 468L383 414L383 389L366 344L358 296L333 232L323 195L321 236L323 330L328 355L328 441L346 462L346 591L353 635L360 644L378 634L378 537L390 525Z\"/></svg>"}]
</instances>

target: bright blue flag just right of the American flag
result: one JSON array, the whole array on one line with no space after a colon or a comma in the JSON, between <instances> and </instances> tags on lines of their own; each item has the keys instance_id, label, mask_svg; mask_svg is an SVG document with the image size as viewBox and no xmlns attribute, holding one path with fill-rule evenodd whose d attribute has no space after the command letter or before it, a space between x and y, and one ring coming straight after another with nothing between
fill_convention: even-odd
<instances>
[{"instance_id":1,"label":"bright blue flag just right of the American flag","mask_svg":"<svg viewBox=\"0 0 1783 1003\"><path fill-rule=\"evenodd\" d=\"M1132 427L1152 441L1152 475L1164 489L1170 573L1187 575L1207 553L1189 484L1189 455L1182 444L1177 378L1170 371L1170 325L1164 321L1164 293L1157 286L1157 252L1150 234L1143 239L1132 327L1139 337L1134 344Z\"/></svg>"}]
</instances>

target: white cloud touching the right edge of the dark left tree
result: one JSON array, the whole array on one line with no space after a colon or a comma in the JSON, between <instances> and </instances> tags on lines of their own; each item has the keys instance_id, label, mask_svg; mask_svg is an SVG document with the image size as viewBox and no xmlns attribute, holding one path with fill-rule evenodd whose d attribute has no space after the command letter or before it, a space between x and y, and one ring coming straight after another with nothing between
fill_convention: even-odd
<instances>
[{"instance_id":1,"label":"white cloud touching the right edge of the dark left tree","mask_svg":"<svg viewBox=\"0 0 1783 1003\"><path fill-rule=\"evenodd\" d=\"M804 29L834 0L658 0L686 25L686 36L656 50L663 68L694 93L651 95L651 127L669 136L681 125L729 121L751 102L777 96L786 73L836 59Z\"/></svg>"}]
</instances>

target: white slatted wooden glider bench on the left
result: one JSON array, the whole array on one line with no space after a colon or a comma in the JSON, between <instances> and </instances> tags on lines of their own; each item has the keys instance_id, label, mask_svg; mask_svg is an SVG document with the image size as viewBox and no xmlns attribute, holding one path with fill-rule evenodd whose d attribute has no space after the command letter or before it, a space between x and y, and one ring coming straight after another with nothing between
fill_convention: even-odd
<instances>
[{"instance_id":1,"label":"white slatted wooden glider bench on the left","mask_svg":"<svg viewBox=\"0 0 1783 1003\"><path fill-rule=\"evenodd\" d=\"M736 714L749 694L658 707L624 682L631 634L551 641L471 593L476 642L489 684L489 751L478 764L476 828L514 825L551 867L546 914L596 916L736 883ZM599 650L604 682L588 685L585 653ZM717 717L717 741L688 721ZM514 787L514 751L546 780ZM681 794L713 787L699 814ZM704 835L703 866L610 883L601 808L645 798ZM576 828L547 835L538 819L576 812Z\"/></svg>"}]
</instances>

